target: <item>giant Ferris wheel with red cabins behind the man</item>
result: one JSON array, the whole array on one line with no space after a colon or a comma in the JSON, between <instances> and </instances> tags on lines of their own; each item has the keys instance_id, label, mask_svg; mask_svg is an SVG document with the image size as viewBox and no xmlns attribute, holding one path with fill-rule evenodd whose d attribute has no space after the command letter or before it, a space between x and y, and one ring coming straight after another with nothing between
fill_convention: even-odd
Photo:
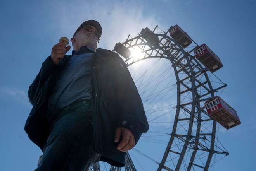
<instances>
[{"instance_id":1,"label":"giant Ferris wheel with red cabins behind the man","mask_svg":"<svg viewBox=\"0 0 256 171\"><path fill-rule=\"evenodd\" d=\"M227 85L213 72L223 65L206 44L199 46L178 25L156 26L129 35L113 51L130 70L150 129L126 152L124 168L99 162L90 171L207 171L229 154L218 130L240 120L219 97Z\"/></svg>"}]
</instances>

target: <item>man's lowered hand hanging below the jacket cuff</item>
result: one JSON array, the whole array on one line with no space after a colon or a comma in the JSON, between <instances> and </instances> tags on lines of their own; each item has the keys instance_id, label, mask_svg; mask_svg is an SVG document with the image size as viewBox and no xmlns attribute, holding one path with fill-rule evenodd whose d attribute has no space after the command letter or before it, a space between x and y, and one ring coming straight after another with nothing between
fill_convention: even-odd
<instances>
[{"instance_id":1,"label":"man's lowered hand hanging below the jacket cuff","mask_svg":"<svg viewBox=\"0 0 256 171\"><path fill-rule=\"evenodd\" d=\"M135 138L130 130L124 127L116 128L115 140L114 142L118 142L122 137L121 142L118 144L117 148L121 152L126 152L132 149L135 146Z\"/></svg>"}]
</instances>

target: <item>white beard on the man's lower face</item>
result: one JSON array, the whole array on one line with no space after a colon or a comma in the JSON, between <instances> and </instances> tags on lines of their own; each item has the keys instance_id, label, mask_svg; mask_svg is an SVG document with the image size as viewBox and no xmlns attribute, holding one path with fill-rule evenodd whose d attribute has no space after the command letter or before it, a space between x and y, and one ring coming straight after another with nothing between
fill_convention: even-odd
<instances>
[{"instance_id":1,"label":"white beard on the man's lower face","mask_svg":"<svg viewBox=\"0 0 256 171\"><path fill-rule=\"evenodd\" d=\"M77 43L81 46L89 46L93 48L94 50L97 49L98 41L93 38L93 36L86 35L86 34L80 34L80 36L76 37Z\"/></svg>"}]
</instances>

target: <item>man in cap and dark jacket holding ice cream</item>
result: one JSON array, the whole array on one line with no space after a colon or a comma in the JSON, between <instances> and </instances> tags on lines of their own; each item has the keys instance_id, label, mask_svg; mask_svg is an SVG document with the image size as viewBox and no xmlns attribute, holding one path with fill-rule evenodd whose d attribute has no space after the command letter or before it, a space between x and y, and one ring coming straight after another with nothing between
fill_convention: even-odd
<instances>
[{"instance_id":1,"label":"man in cap and dark jacket holding ice cream","mask_svg":"<svg viewBox=\"0 0 256 171\"><path fill-rule=\"evenodd\" d=\"M97 49L102 27L81 24L71 46L60 42L29 87L33 108L25 124L43 151L36 170L85 171L97 161L125 165L149 125L137 88L118 54Z\"/></svg>"}]
</instances>

